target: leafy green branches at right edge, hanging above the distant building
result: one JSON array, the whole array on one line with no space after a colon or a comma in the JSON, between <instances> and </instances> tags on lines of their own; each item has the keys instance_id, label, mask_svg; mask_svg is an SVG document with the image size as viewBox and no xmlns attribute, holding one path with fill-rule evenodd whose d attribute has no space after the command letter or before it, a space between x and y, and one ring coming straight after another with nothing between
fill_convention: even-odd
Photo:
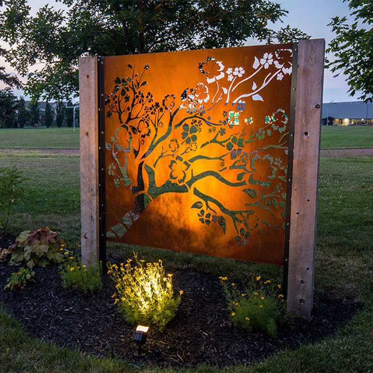
<instances>
[{"instance_id":1,"label":"leafy green branches at right edge, hanging above the distant building","mask_svg":"<svg viewBox=\"0 0 373 373\"><path fill-rule=\"evenodd\" d=\"M344 0L346 1L346 0ZM335 17L329 26L336 37L326 52L333 52L335 59L328 61L334 76L341 71L347 78L351 96L361 93L359 99L373 101L373 2L349 0L352 24L347 17Z\"/></svg>"}]
</instances>

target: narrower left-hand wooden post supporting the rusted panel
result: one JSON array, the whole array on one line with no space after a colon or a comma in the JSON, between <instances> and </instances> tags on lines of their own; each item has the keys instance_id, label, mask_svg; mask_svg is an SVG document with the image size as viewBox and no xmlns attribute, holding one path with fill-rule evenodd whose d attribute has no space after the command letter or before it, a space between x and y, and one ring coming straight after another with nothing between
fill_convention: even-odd
<instances>
[{"instance_id":1,"label":"narrower left-hand wooden post supporting the rusted panel","mask_svg":"<svg viewBox=\"0 0 373 373\"><path fill-rule=\"evenodd\" d=\"M99 258L97 57L79 59L81 250L87 264Z\"/></svg>"}]
</instances>

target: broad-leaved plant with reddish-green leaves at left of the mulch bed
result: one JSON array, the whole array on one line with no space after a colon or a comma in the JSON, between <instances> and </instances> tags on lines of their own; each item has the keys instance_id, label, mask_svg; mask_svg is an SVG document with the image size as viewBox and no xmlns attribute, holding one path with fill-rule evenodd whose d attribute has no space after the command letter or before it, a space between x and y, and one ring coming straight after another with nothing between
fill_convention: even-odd
<instances>
[{"instance_id":1,"label":"broad-leaved plant with reddish-green leaves at left of the mulch bed","mask_svg":"<svg viewBox=\"0 0 373 373\"><path fill-rule=\"evenodd\" d=\"M49 228L21 232L15 244L9 247L12 252L9 265L19 265L25 261L28 268L33 268L36 264L45 267L50 262L60 262L66 244L57 238L58 235L58 232Z\"/></svg>"}]
</instances>

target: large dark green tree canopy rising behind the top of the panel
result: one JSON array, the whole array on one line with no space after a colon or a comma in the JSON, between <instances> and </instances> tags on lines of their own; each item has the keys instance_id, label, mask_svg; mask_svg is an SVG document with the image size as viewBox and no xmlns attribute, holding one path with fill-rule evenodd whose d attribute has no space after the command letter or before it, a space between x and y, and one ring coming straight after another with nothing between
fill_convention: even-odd
<instances>
[{"instance_id":1,"label":"large dark green tree canopy rising behind the top of the panel","mask_svg":"<svg viewBox=\"0 0 373 373\"><path fill-rule=\"evenodd\" d=\"M64 99L78 92L84 55L125 55L243 45L249 38L287 42L308 36L270 25L287 13L270 0L62 0L30 14L26 0L8 0L0 13L7 61L28 77L34 99ZM279 36L279 37L277 37ZM285 39L285 40L284 40ZM29 73L38 63L43 67ZM40 65L38 65L40 66Z\"/></svg>"}]
</instances>

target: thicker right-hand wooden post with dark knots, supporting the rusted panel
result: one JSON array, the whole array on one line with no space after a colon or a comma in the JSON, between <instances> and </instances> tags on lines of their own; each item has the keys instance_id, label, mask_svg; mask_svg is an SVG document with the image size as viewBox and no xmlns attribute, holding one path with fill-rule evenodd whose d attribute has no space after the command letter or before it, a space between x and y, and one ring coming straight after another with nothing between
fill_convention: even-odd
<instances>
[{"instance_id":1,"label":"thicker right-hand wooden post with dark knots, supporting the rusted panel","mask_svg":"<svg viewBox=\"0 0 373 373\"><path fill-rule=\"evenodd\" d=\"M298 44L287 312L308 319L313 307L324 39Z\"/></svg>"}]
</instances>

